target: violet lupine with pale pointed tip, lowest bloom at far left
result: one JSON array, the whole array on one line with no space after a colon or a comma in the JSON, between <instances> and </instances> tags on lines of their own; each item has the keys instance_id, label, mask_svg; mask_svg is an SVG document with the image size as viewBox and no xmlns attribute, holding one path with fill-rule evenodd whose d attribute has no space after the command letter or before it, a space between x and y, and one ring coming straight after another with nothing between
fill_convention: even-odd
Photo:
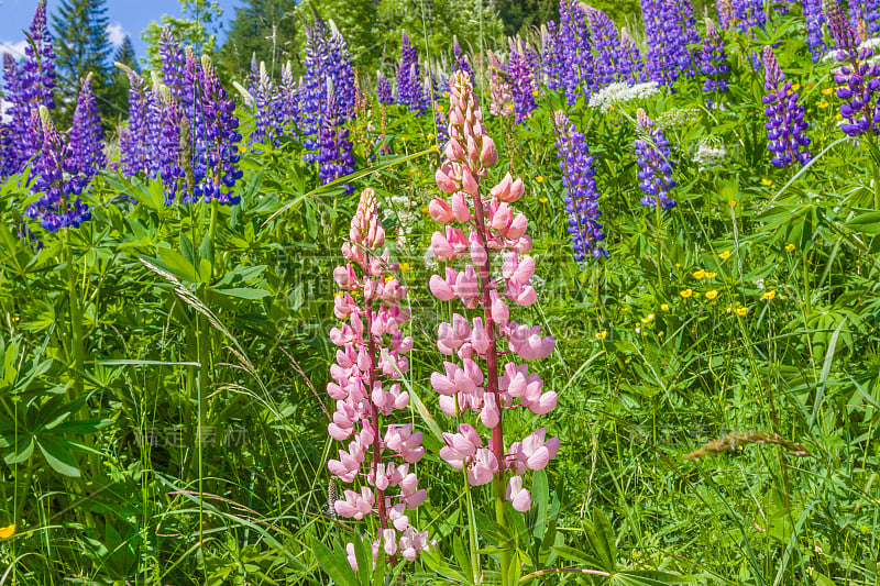
<instances>
[{"instance_id":1,"label":"violet lupine with pale pointed tip, lowest bloom at far left","mask_svg":"<svg viewBox=\"0 0 880 586\"><path fill-rule=\"evenodd\" d=\"M52 123L48 109L41 106L40 110L32 112L32 119L36 118L42 128L43 143L34 159L31 191L42 196L28 207L24 215L38 220L47 232L79 228L82 222L91 219L89 207L78 198L89 178L79 173L70 147L64 143ZM74 197L77 199L73 199Z\"/></svg>"}]
</instances>

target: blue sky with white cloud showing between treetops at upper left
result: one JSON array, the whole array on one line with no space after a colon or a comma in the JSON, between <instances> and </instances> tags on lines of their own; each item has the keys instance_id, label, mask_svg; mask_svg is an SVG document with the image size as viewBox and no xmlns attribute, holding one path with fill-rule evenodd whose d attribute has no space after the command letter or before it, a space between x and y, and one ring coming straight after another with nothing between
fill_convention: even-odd
<instances>
[{"instance_id":1,"label":"blue sky with white cloud showing between treetops at upper left","mask_svg":"<svg viewBox=\"0 0 880 586\"><path fill-rule=\"evenodd\" d=\"M0 0L0 54L11 52L21 53L24 48L23 29L31 25L36 0ZM47 0L50 26L52 14L57 9L61 0ZM223 23L235 16L235 7L242 5L242 0L218 0L223 10ZM118 45L125 35L131 35L138 57L145 55L144 42L141 33L152 20L158 20L162 14L180 16L178 0L107 0L107 16L109 20L108 33L110 41ZM220 32L223 37L223 32Z\"/></svg>"}]
</instances>

